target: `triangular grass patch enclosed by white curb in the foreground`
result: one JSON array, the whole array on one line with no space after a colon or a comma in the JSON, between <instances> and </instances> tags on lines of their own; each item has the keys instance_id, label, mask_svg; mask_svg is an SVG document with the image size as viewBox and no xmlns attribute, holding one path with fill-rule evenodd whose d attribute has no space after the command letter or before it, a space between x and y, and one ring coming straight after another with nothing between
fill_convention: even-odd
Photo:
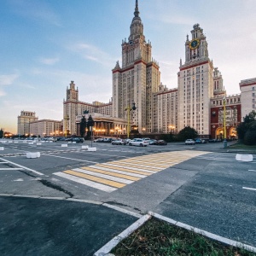
<instances>
[{"instance_id":1,"label":"triangular grass patch enclosed by white curb in the foreground","mask_svg":"<svg viewBox=\"0 0 256 256\"><path fill-rule=\"evenodd\" d=\"M115 256L255 256L256 253L230 247L192 231L149 219L111 251Z\"/></svg>"}]
</instances>

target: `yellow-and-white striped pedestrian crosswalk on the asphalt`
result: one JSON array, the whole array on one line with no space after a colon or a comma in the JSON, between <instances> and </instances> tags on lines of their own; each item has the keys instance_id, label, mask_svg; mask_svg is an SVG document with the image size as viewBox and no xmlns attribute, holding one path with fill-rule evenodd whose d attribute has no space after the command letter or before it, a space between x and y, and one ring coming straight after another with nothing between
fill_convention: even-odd
<instances>
[{"instance_id":1,"label":"yellow-and-white striped pedestrian crosswalk on the asphalt","mask_svg":"<svg viewBox=\"0 0 256 256\"><path fill-rule=\"evenodd\" d=\"M209 152L187 150L147 154L55 172L54 174L95 189L113 192L168 167L207 153Z\"/></svg>"}]
</instances>

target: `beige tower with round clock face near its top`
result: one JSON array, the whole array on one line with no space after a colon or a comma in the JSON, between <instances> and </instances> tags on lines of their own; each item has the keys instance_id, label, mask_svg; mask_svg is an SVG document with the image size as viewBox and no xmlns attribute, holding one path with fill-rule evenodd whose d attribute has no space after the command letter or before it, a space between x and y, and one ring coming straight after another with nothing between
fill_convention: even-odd
<instances>
[{"instance_id":1,"label":"beige tower with round clock face near its top","mask_svg":"<svg viewBox=\"0 0 256 256\"><path fill-rule=\"evenodd\" d=\"M213 96L213 64L208 57L207 38L199 24L193 26L185 42L185 62L178 77L178 127L193 127L201 137L210 134L210 99ZM215 77L218 77L216 73ZM219 83L222 78L219 77ZM221 86L220 86L221 85ZM222 90L222 84L219 84ZM216 92L218 90L216 89Z\"/></svg>"}]
</instances>

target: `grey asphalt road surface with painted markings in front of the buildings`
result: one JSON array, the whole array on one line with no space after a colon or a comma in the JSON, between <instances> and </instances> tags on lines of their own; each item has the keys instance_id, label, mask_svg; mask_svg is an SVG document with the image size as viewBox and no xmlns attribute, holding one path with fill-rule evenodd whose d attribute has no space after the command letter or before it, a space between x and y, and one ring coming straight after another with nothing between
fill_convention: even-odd
<instances>
[{"instance_id":1,"label":"grey asphalt road surface with painted markings in front of the buildings","mask_svg":"<svg viewBox=\"0 0 256 256\"><path fill-rule=\"evenodd\" d=\"M256 247L255 154L236 161L221 143L1 146L1 255L92 255L148 211Z\"/></svg>"}]
</instances>

